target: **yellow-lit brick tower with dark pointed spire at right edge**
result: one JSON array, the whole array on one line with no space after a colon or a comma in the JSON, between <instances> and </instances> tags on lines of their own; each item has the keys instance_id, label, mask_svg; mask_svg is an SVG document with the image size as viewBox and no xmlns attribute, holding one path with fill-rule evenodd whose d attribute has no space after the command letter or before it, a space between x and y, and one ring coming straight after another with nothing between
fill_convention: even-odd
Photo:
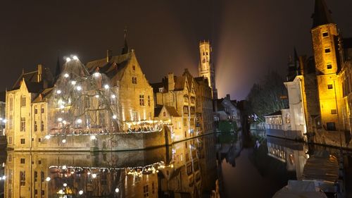
<instances>
[{"instance_id":1,"label":"yellow-lit brick tower with dark pointed spire at right edge","mask_svg":"<svg viewBox=\"0 0 352 198\"><path fill-rule=\"evenodd\" d=\"M341 115L341 84L337 75L340 67L339 33L324 0L315 0L313 27L310 32L313 39L321 124L326 130L337 130Z\"/></svg>"}]
</instances>

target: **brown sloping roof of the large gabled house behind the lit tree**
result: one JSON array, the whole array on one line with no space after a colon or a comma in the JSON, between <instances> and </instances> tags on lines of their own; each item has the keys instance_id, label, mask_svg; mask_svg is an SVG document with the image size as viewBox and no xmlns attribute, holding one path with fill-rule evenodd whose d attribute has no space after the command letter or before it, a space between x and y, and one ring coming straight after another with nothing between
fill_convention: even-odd
<instances>
[{"instance_id":1,"label":"brown sloping roof of the large gabled house behind the lit tree","mask_svg":"<svg viewBox=\"0 0 352 198\"><path fill-rule=\"evenodd\" d=\"M86 64L89 73L94 73L99 70L100 73L105 73L108 78L116 78L120 80L130 62L134 52L111 57L110 61L106 62L106 58L101 58L96 61L90 61Z\"/></svg>"}]
</instances>

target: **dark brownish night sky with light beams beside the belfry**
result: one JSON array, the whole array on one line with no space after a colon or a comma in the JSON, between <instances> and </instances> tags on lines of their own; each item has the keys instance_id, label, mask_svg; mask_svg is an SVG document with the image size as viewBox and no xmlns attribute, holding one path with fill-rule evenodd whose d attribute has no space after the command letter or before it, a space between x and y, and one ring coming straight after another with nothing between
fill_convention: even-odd
<instances>
[{"instance_id":1,"label":"dark brownish night sky with light beams beside the belfry","mask_svg":"<svg viewBox=\"0 0 352 198\"><path fill-rule=\"evenodd\" d=\"M344 37L352 1L327 0ZM58 56L83 63L120 54L123 30L149 82L184 68L198 75L199 40L213 46L219 97L245 99L269 70L286 75L288 56L312 54L313 0L1 1L0 90L38 63L54 73Z\"/></svg>"}]
</instances>

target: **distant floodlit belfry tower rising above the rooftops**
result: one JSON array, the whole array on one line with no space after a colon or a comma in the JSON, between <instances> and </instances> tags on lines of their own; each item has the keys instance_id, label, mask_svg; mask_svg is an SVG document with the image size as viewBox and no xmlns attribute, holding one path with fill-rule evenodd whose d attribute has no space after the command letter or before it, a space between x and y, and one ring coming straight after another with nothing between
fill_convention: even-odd
<instances>
[{"instance_id":1,"label":"distant floodlit belfry tower rising above the rooftops","mask_svg":"<svg viewBox=\"0 0 352 198\"><path fill-rule=\"evenodd\" d=\"M215 87L215 70L211 60L210 42L199 42L199 76L208 79L209 87L212 89L213 99L218 99L218 90Z\"/></svg>"}]
</instances>

